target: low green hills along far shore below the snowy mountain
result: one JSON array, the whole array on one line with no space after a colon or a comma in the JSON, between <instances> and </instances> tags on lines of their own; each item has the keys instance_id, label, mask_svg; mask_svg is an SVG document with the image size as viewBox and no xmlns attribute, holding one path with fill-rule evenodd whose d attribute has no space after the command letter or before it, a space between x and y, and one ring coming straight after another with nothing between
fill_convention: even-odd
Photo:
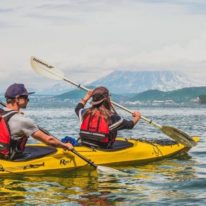
<instances>
[{"instance_id":1,"label":"low green hills along far shore below the snowy mountain","mask_svg":"<svg viewBox=\"0 0 206 206\"><path fill-rule=\"evenodd\" d=\"M148 90L138 94L113 94L111 98L115 102L121 103L151 103L154 101L171 101L174 103L191 103L198 102L201 95L206 94L206 87L187 87L182 89L177 89L173 91L160 91L160 90ZM83 96L85 92L82 90L75 89L70 92L55 96L54 98L58 101L71 101L77 103Z\"/></svg>"}]
</instances>

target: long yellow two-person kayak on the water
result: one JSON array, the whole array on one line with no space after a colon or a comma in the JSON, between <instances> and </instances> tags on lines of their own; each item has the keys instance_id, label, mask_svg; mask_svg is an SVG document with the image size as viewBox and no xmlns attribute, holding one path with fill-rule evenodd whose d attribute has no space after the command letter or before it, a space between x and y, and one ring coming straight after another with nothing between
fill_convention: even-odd
<instances>
[{"instance_id":1,"label":"long yellow two-person kayak on the water","mask_svg":"<svg viewBox=\"0 0 206 206\"><path fill-rule=\"evenodd\" d=\"M193 137L195 142L198 137ZM182 144L171 140L138 140L117 138L113 149L104 150L76 146L75 150L97 165L146 164L187 152ZM15 161L0 160L0 175L18 173L48 173L77 169L87 163L70 151L42 144L28 145L22 157Z\"/></svg>"}]
</instances>

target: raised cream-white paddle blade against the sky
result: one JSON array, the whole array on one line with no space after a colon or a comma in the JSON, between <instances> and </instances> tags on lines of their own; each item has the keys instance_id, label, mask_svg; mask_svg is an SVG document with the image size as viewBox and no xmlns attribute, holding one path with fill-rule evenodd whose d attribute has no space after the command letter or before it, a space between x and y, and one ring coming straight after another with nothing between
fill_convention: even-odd
<instances>
[{"instance_id":1,"label":"raised cream-white paddle blade against the sky","mask_svg":"<svg viewBox=\"0 0 206 206\"><path fill-rule=\"evenodd\" d=\"M38 74L48 77L54 80L64 79L64 73L60 70L57 70L54 66L49 65L47 62L37 58L31 57L31 66L35 72Z\"/></svg>"}]
</instances>

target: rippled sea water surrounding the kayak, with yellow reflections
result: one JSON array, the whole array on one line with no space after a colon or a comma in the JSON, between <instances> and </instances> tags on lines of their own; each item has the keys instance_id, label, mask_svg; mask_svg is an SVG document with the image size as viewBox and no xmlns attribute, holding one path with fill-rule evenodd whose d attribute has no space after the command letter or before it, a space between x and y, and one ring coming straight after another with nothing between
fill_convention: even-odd
<instances>
[{"instance_id":1,"label":"rippled sea water surrounding the kayak, with yellow reflections","mask_svg":"<svg viewBox=\"0 0 206 206\"><path fill-rule=\"evenodd\" d=\"M57 175L0 178L0 205L206 205L206 107L138 109L160 124L200 136L199 144L179 159L116 167L129 173L128 177L97 174L87 168ZM77 137L79 122L73 108L30 107L25 112L59 138ZM119 136L166 138L143 121Z\"/></svg>"}]
</instances>

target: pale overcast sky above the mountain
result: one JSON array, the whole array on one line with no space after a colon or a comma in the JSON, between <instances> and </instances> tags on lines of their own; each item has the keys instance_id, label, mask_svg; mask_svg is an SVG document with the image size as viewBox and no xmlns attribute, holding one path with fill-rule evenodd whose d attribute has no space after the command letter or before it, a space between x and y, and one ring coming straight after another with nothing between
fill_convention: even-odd
<instances>
[{"instance_id":1,"label":"pale overcast sky above the mountain","mask_svg":"<svg viewBox=\"0 0 206 206\"><path fill-rule=\"evenodd\" d=\"M1 0L0 91L56 83L33 72L32 55L84 83L114 70L178 70L203 82L206 1Z\"/></svg>"}]
</instances>

